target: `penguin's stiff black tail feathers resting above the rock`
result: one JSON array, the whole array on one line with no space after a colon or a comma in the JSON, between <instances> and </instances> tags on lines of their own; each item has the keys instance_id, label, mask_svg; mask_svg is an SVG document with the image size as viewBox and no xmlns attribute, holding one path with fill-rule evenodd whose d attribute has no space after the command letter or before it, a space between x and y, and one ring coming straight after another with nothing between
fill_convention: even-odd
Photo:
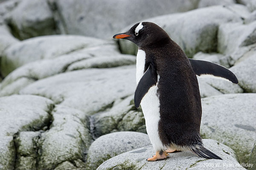
<instances>
[{"instance_id":1,"label":"penguin's stiff black tail feathers resting above the rock","mask_svg":"<svg viewBox=\"0 0 256 170\"><path fill-rule=\"evenodd\" d=\"M197 146L192 148L192 152L194 152L197 156L206 158L206 159L221 159L221 157L217 156L215 153L212 153L204 146ZM222 159L221 159L222 160Z\"/></svg>"}]
</instances>

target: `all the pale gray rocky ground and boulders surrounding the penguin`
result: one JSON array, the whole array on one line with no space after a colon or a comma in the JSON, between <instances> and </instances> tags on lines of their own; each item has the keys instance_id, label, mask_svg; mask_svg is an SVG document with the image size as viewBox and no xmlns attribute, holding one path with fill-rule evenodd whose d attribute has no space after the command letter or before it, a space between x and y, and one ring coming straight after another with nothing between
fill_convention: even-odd
<instances>
[{"instance_id":1,"label":"all the pale gray rocky ground and boulders surrounding the penguin","mask_svg":"<svg viewBox=\"0 0 256 170\"><path fill-rule=\"evenodd\" d=\"M145 160L137 48L111 39L140 21L236 74L239 85L198 78L201 136L224 160ZM0 0L0 169L255 170L255 65L255 0Z\"/></svg>"}]
</instances>

